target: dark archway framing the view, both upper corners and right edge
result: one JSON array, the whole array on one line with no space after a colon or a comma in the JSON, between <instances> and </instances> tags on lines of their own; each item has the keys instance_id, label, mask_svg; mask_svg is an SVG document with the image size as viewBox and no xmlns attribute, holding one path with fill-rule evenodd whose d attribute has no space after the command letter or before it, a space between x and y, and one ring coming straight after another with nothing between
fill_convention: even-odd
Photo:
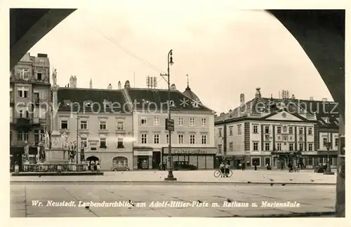
<instances>
[{"instance_id":1,"label":"dark archway framing the view, both upper corners and right edge","mask_svg":"<svg viewBox=\"0 0 351 227\"><path fill-rule=\"evenodd\" d=\"M46 33L76 9L22 8L10 11L10 70ZM339 103L340 137L345 135L345 11L268 10L303 47ZM340 146L341 148L341 146ZM339 151L340 154L340 151ZM339 155L338 164L345 163ZM345 217L345 179L338 174L336 216Z\"/></svg>"}]
</instances>

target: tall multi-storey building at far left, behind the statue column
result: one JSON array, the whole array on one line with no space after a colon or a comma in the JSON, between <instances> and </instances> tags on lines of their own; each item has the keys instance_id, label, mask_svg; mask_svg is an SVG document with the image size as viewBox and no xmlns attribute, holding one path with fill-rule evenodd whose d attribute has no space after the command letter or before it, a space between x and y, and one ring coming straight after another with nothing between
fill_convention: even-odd
<instances>
[{"instance_id":1,"label":"tall multi-storey building at far left, behind the statue column","mask_svg":"<svg viewBox=\"0 0 351 227\"><path fill-rule=\"evenodd\" d=\"M51 131L50 62L46 54L26 53L10 75L10 156L21 158L29 145L29 157L37 154L37 145L45 131ZM34 159L35 160L35 159ZM14 159L12 160L15 161Z\"/></svg>"}]
</instances>

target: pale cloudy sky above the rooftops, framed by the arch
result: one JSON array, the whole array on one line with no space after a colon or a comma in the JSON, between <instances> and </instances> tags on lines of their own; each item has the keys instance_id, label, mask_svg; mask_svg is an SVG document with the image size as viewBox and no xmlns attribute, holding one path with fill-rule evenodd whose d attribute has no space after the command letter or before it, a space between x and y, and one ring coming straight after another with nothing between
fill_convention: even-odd
<instances>
[{"instance_id":1,"label":"pale cloudy sky above the rooftops, framed by the arch","mask_svg":"<svg viewBox=\"0 0 351 227\"><path fill-rule=\"evenodd\" d=\"M180 1L173 7L141 1L118 8L79 8L29 50L47 53L58 84L77 77L78 87L117 89L128 79L146 87L146 77L167 70L173 49L171 83L187 86L216 112L236 108L240 93L251 100L256 87L263 97L289 90L296 98L332 100L303 48L285 27L265 11L240 11L230 4ZM51 72L53 72L51 70Z\"/></svg>"}]
</instances>

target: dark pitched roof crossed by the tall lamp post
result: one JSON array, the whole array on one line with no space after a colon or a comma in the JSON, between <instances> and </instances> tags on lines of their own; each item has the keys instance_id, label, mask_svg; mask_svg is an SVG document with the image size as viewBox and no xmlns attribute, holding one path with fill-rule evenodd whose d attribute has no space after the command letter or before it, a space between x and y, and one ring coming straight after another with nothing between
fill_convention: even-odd
<instances>
[{"instance_id":1,"label":"dark pitched roof crossed by the tall lamp post","mask_svg":"<svg viewBox=\"0 0 351 227\"><path fill-rule=\"evenodd\" d=\"M164 89L128 89L131 102L137 109L149 108L149 110L167 109L168 90ZM195 100L185 96L178 90L171 90L171 100L174 105L171 110L204 110L213 111Z\"/></svg>"}]
</instances>

